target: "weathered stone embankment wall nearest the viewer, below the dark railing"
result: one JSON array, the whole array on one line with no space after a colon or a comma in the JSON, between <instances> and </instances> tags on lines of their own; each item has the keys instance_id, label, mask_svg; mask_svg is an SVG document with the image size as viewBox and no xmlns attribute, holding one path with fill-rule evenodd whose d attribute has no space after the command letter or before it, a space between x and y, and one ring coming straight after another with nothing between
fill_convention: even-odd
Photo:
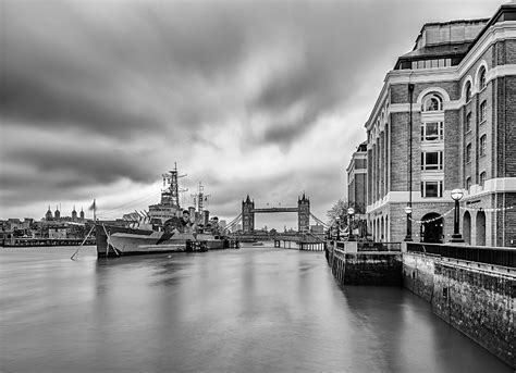
<instances>
[{"instance_id":1,"label":"weathered stone embankment wall nearest the viewer, below the dark railing","mask_svg":"<svg viewBox=\"0 0 516 373\"><path fill-rule=\"evenodd\" d=\"M403 285L440 318L516 366L515 274L504 268L403 254Z\"/></svg>"}]
</instances>

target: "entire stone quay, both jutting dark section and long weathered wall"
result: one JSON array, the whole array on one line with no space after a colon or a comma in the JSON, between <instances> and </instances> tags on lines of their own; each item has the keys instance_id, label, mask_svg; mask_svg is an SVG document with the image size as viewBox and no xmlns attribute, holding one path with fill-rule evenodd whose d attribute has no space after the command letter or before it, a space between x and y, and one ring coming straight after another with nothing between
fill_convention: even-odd
<instances>
[{"instance_id":1,"label":"entire stone quay, both jutting dark section and long weathered wall","mask_svg":"<svg viewBox=\"0 0 516 373\"><path fill-rule=\"evenodd\" d=\"M514 252L507 257L506 249L501 249L501 256L490 254L492 262L507 258L508 265L499 265L411 251L418 244L409 244L408 250L405 243L398 245L396 252L365 251L359 243L331 243L327 260L342 285L403 286L428 301L446 323L516 368ZM381 249L380 244L377 250ZM464 247L458 256L474 249Z\"/></svg>"}]
</instances>

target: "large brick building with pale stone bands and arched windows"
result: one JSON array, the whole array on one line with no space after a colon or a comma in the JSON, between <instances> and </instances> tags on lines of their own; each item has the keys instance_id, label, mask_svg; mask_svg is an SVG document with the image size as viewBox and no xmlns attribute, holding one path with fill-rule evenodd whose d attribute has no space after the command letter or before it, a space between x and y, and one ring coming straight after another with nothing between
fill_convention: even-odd
<instances>
[{"instance_id":1,"label":"large brick building with pale stone bands and arched windows","mask_svg":"<svg viewBox=\"0 0 516 373\"><path fill-rule=\"evenodd\" d=\"M516 246L516 4L491 18L423 25L386 74L366 128L374 240L403 240L411 204L411 238L447 241L451 191L460 188L464 239Z\"/></svg>"}]
</instances>

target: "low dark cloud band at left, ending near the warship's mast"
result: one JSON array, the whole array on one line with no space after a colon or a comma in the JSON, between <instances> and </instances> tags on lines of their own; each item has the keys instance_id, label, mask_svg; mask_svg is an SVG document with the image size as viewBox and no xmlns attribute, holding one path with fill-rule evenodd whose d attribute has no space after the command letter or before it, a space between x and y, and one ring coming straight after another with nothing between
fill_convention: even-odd
<instances>
[{"instance_id":1,"label":"low dark cloud band at left, ending near the warship's mast","mask_svg":"<svg viewBox=\"0 0 516 373\"><path fill-rule=\"evenodd\" d=\"M13 135L5 132L9 138ZM22 144L22 141L20 141ZM97 142L95 151L70 133L47 136L44 141L24 138L24 144L3 144L0 173L1 206L63 199L90 198L99 187L119 181L148 185L162 172L146 149Z\"/></svg>"}]
</instances>

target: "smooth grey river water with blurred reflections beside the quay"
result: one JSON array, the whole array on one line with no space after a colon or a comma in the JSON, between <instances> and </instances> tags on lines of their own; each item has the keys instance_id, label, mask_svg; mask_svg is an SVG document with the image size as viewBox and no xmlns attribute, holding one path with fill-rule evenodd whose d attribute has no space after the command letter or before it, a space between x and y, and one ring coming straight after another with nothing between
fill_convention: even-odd
<instances>
[{"instance_id":1,"label":"smooth grey river water with blurred reflections beside the quay","mask_svg":"<svg viewBox=\"0 0 516 373\"><path fill-rule=\"evenodd\" d=\"M0 248L2 372L511 372L402 288L340 287L322 252L97 261Z\"/></svg>"}]
</instances>

